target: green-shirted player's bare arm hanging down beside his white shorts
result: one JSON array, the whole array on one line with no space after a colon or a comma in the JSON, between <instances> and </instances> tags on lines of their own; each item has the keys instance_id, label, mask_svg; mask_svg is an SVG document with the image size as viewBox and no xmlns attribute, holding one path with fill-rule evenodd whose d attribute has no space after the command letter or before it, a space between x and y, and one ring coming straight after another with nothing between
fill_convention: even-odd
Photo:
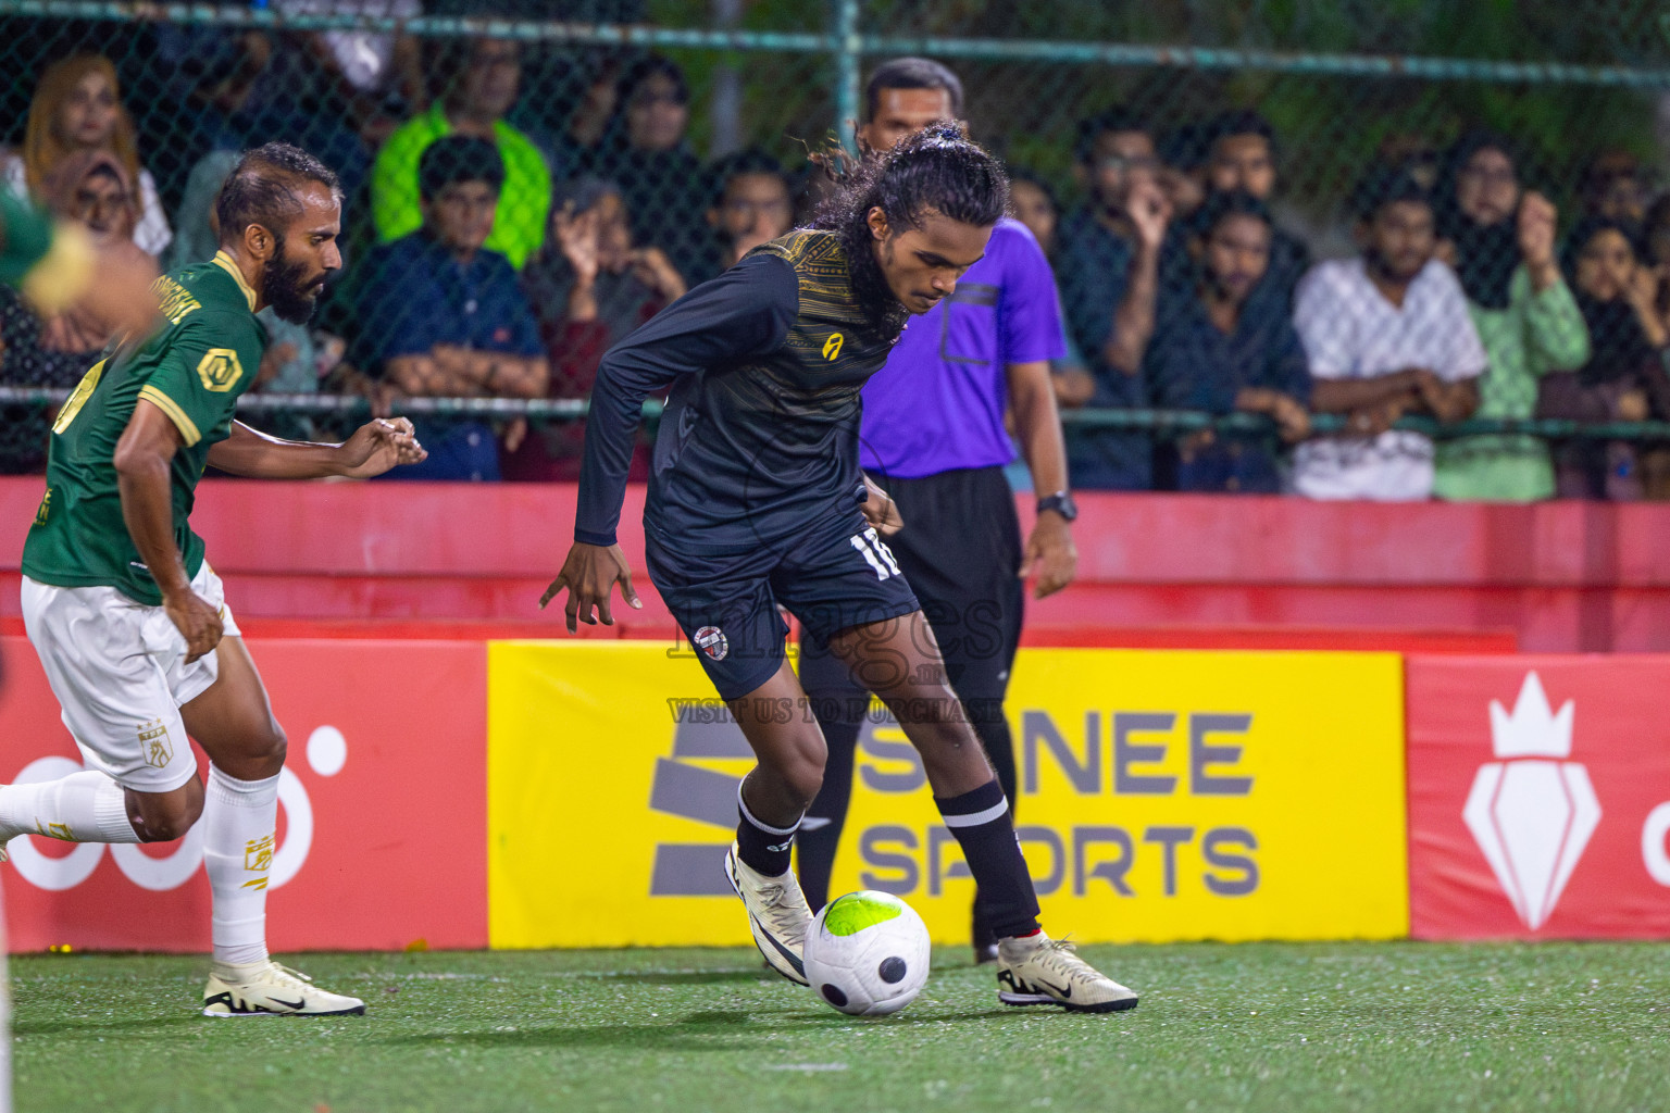
<instances>
[{"instance_id":1,"label":"green-shirted player's bare arm hanging down beside his white shorts","mask_svg":"<svg viewBox=\"0 0 1670 1113\"><path fill-rule=\"evenodd\" d=\"M169 415L140 399L115 446L115 471L122 521L162 591L164 611L185 639L189 664L220 642L220 614L192 591L174 539L169 466L179 447L180 432Z\"/></svg>"}]
</instances>

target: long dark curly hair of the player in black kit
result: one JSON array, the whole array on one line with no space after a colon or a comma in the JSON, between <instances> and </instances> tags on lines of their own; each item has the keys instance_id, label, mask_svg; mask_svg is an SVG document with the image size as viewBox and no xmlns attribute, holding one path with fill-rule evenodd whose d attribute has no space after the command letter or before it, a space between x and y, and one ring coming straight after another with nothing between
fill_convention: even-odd
<instances>
[{"instance_id":1,"label":"long dark curly hair of the player in black kit","mask_svg":"<svg viewBox=\"0 0 1670 1113\"><path fill-rule=\"evenodd\" d=\"M870 212L880 209L893 230L918 229L930 214L990 227L1009 209L1009 175L955 120L930 123L892 150L843 169L842 187L823 202L812 227L840 237L870 329L897 335L910 314L875 259Z\"/></svg>"}]
</instances>

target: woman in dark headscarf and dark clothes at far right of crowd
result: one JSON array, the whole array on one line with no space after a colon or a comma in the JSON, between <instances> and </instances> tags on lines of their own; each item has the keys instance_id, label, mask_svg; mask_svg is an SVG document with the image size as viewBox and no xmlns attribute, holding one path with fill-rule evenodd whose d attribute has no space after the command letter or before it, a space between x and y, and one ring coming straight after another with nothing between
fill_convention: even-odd
<instances>
[{"instance_id":1,"label":"woman in dark headscarf and dark clothes at far right of crowd","mask_svg":"<svg viewBox=\"0 0 1670 1113\"><path fill-rule=\"evenodd\" d=\"M1632 224L1588 217L1571 230L1566 269L1593 352L1580 370L1543 379L1540 417L1608 422L1670 414L1670 325L1658 315L1658 284L1645 259ZM1637 452L1627 441L1556 444L1555 481L1563 499L1642 497Z\"/></svg>"}]
</instances>

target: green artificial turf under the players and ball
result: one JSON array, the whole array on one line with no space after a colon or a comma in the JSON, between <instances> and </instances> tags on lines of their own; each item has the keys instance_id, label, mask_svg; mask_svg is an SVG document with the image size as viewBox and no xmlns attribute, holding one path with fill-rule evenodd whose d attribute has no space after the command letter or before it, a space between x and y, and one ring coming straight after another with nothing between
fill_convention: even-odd
<instances>
[{"instance_id":1,"label":"green artificial turf under the players and ball","mask_svg":"<svg viewBox=\"0 0 1670 1113\"><path fill-rule=\"evenodd\" d=\"M893 1018L752 951L309 954L364 1018L209 1020L204 961L12 963L52 1110L1670 1110L1670 944L1092 946L1134 1013L1002 1008L962 951Z\"/></svg>"}]
</instances>

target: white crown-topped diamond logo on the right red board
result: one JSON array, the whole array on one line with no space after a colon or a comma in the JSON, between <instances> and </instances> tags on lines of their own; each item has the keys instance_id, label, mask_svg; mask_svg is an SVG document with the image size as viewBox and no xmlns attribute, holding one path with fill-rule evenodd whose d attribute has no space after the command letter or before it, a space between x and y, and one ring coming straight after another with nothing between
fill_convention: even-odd
<instances>
[{"instance_id":1,"label":"white crown-topped diamond logo on the right red board","mask_svg":"<svg viewBox=\"0 0 1670 1113\"><path fill-rule=\"evenodd\" d=\"M1513 713L1490 701L1491 749L1461 818L1485 853L1520 921L1536 931L1553 914L1588 839L1600 801L1588 769L1571 754L1576 701L1555 713L1536 672L1525 676Z\"/></svg>"}]
</instances>

